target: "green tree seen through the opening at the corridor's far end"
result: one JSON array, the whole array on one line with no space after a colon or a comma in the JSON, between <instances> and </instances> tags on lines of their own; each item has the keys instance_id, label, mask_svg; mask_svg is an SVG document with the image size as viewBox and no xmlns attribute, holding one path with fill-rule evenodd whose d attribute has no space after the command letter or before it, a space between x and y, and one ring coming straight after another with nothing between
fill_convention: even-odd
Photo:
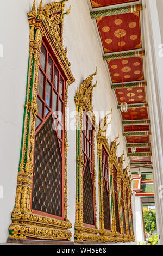
<instances>
[{"instance_id":1,"label":"green tree seen through the opening at the corridor's far end","mask_svg":"<svg viewBox=\"0 0 163 256\"><path fill-rule=\"evenodd\" d=\"M144 221L145 221L145 230L147 233L154 230L156 228L156 215L155 212L146 211L143 213Z\"/></svg>"}]
</instances>

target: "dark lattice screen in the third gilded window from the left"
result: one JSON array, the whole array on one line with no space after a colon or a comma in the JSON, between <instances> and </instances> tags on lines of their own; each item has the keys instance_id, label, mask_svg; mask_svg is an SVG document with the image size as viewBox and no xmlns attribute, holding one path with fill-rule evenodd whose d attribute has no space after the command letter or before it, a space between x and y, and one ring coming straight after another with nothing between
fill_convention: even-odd
<instances>
[{"instance_id":1,"label":"dark lattice screen in the third gilded window from the left","mask_svg":"<svg viewBox=\"0 0 163 256\"><path fill-rule=\"evenodd\" d=\"M106 185L104 187L103 199L104 199L104 227L105 229L110 230L110 207L109 207L109 197L108 197L108 191L107 191Z\"/></svg>"}]
</instances>

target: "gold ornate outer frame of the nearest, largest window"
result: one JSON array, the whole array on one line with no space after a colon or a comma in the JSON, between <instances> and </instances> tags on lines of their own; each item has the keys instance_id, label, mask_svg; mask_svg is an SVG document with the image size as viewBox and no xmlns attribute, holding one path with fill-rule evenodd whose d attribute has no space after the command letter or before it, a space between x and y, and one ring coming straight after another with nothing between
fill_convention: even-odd
<instances>
[{"instance_id":1,"label":"gold ornate outer frame of the nearest, largest window","mask_svg":"<svg viewBox=\"0 0 163 256\"><path fill-rule=\"evenodd\" d=\"M41 240L71 240L68 230L72 224L67 218L67 131L65 113L65 170L64 170L64 221L33 214L30 199L32 194L33 156L35 121L37 116L37 87L40 65L42 38L45 37L51 46L61 69L66 76L65 106L67 106L68 85L74 82L70 70L70 62L66 56L67 48L63 47L64 2L52 2L35 9L35 0L32 11L28 13L30 28L28 75L26 89L26 103L23 117L22 143L20 163L17 176L17 188L14 210L11 213L12 223L9 227L9 243L26 243L29 239ZM57 15L53 15L57 13ZM25 242L26 241L26 242Z\"/></svg>"}]
</instances>

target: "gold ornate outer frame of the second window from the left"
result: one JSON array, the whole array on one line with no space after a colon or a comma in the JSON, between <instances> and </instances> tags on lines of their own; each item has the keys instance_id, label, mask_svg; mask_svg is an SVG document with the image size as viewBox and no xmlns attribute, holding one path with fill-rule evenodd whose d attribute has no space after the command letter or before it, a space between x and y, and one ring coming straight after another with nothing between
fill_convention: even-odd
<instances>
[{"instance_id":1,"label":"gold ornate outer frame of the second window from the left","mask_svg":"<svg viewBox=\"0 0 163 256\"><path fill-rule=\"evenodd\" d=\"M96 72L87 77L81 84L80 89L77 89L74 101L76 104L76 220L75 220L75 233L74 241L99 241L99 230L97 228L96 217L96 172L95 172L95 132L97 130L97 124L95 120L95 114L93 114L92 96L93 88L97 86L92 85L93 76ZM86 227L83 222L83 154L82 154L82 124L83 124L83 111L86 111L89 119L92 122L93 127L93 168L94 168L94 202L95 202L95 228Z\"/></svg>"}]
</instances>

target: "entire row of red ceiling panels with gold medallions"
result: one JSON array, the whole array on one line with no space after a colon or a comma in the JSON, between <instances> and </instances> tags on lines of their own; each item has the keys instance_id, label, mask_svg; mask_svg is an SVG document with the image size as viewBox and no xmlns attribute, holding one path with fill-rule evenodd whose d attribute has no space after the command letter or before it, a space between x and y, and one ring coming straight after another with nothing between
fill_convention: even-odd
<instances>
[{"instance_id":1,"label":"entire row of red ceiling panels with gold medallions","mask_svg":"<svg viewBox=\"0 0 163 256\"><path fill-rule=\"evenodd\" d=\"M92 8L106 7L109 5L119 4L119 7L122 7L122 3L132 3L136 0L91 0ZM112 7L114 8L114 7ZM136 13L124 13L116 14L112 16L98 17L96 19L99 36L101 38L103 51L105 54L110 56L110 59L107 60L108 68L110 72L111 82L114 83L128 83L128 82L140 82L143 81L143 59L140 53L140 57L133 53L137 49L142 48L141 41L141 20L140 20L140 11ZM121 32L121 34L120 34ZM120 37L121 36L121 37ZM123 58L121 63L121 50L127 53L126 58ZM118 59L115 58L115 53L118 53ZM134 88L124 88L115 89L115 94L117 97L118 105L121 105L125 101L128 105L131 104L142 104L147 103L146 100L146 89L145 87L134 87ZM124 94L124 98L123 98ZM133 114L133 120L147 120L148 111L147 107L133 107L128 108L126 113L122 113L123 120L131 120ZM134 135L134 143L150 143L150 125L149 124L139 124L134 125L124 125L124 132L143 132L148 131L147 135ZM127 143L133 143L133 136L126 136ZM151 153L151 147L136 148L136 152L148 152ZM128 148L128 153L131 153L131 148ZM151 156L134 156L130 157L131 162L149 162L151 163ZM148 164L148 166L149 166ZM132 167L131 167L132 168Z\"/></svg>"}]
</instances>

